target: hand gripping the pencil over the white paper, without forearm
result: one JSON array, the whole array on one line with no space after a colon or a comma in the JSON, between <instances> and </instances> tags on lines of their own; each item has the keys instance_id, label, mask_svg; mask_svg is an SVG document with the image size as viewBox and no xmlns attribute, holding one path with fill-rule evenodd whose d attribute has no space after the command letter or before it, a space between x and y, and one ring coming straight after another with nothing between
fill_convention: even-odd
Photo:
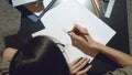
<instances>
[{"instance_id":1,"label":"hand gripping the pencil over the white paper, without forearm","mask_svg":"<svg viewBox=\"0 0 132 75\"><path fill-rule=\"evenodd\" d=\"M87 29L76 24L68 34L74 46L78 47L86 54L96 55L97 51L94 49L94 46L97 42L91 39Z\"/></svg>"}]
</instances>

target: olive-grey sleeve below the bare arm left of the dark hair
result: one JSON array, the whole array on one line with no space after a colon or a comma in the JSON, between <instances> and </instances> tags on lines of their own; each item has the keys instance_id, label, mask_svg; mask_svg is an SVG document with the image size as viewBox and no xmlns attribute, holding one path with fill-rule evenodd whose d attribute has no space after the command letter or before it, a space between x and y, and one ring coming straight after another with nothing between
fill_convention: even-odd
<instances>
[{"instance_id":1,"label":"olive-grey sleeve below the bare arm left of the dark hair","mask_svg":"<svg viewBox=\"0 0 132 75\"><path fill-rule=\"evenodd\" d=\"M9 74L9 66L10 66L11 57L2 58L0 63L0 75L8 75Z\"/></svg>"}]
</instances>

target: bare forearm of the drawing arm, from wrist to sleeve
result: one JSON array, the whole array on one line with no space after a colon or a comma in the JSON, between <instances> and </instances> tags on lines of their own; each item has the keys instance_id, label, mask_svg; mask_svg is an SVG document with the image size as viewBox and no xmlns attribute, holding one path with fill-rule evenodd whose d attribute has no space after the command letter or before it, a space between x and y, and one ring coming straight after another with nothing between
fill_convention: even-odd
<instances>
[{"instance_id":1,"label":"bare forearm of the drawing arm, from wrist to sleeve","mask_svg":"<svg viewBox=\"0 0 132 75\"><path fill-rule=\"evenodd\" d=\"M100 43L97 43L95 49L99 51L100 53L105 54L106 56L108 56L109 58L113 60L121 67L132 65L132 56L123 52L120 52L109 46L105 46Z\"/></svg>"}]
</instances>

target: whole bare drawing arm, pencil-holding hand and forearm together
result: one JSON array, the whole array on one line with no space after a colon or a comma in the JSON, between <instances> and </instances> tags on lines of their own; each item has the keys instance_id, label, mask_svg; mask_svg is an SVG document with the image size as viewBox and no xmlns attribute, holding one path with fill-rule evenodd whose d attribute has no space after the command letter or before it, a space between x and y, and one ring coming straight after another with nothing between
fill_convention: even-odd
<instances>
[{"instance_id":1,"label":"whole bare drawing arm, pencil-holding hand and forearm together","mask_svg":"<svg viewBox=\"0 0 132 75\"><path fill-rule=\"evenodd\" d=\"M69 34L73 45L81 50L84 53L90 54L89 51L100 52L113 60L121 67L132 65L132 56L95 42L89 34L79 35L78 33L88 33L88 31L79 25L75 25L72 30L72 33Z\"/></svg>"}]
</instances>

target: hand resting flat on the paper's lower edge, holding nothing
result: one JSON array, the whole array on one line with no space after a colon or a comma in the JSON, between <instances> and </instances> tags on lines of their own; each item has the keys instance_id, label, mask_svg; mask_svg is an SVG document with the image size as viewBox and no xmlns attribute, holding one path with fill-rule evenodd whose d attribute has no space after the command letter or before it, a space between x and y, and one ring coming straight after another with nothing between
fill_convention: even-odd
<instances>
[{"instance_id":1,"label":"hand resting flat on the paper's lower edge, holding nothing","mask_svg":"<svg viewBox=\"0 0 132 75\"><path fill-rule=\"evenodd\" d=\"M87 75L87 72L92 67L91 65L85 67L88 62L89 62L89 58L78 57L73 63L69 63L68 66L69 66L70 74Z\"/></svg>"}]
</instances>

